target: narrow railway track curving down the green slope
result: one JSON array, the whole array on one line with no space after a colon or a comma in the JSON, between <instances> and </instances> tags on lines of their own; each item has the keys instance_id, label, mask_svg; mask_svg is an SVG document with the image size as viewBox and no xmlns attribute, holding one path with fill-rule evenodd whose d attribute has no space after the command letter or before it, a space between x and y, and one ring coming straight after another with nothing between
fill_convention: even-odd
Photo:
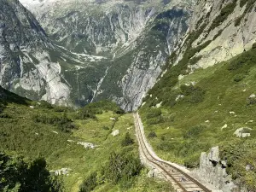
<instances>
[{"instance_id":1,"label":"narrow railway track curving down the green slope","mask_svg":"<svg viewBox=\"0 0 256 192\"><path fill-rule=\"evenodd\" d=\"M152 164L154 167L160 170L162 175L166 177L166 180L172 183L172 186L174 187L174 189L177 190L177 192L211 192L212 191L210 189L207 189L203 184L201 184L195 178L190 177L187 173L181 171L177 167L172 166L171 164L163 160L156 159L155 156L151 154L150 150L148 150L148 146L145 143L145 137L143 137L143 131L141 127L142 125L140 124L138 113L133 113L133 116L135 120L138 143L143 155L150 162L150 164Z\"/></svg>"}]
</instances>

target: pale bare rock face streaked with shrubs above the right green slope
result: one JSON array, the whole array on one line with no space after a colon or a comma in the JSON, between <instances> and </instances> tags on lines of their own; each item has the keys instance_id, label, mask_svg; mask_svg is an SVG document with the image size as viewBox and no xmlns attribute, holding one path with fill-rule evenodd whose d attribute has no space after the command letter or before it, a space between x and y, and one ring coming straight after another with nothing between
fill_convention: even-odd
<instances>
[{"instance_id":1,"label":"pale bare rock face streaked with shrubs above the right green slope","mask_svg":"<svg viewBox=\"0 0 256 192\"><path fill-rule=\"evenodd\" d=\"M211 67L218 62L251 49L256 42L256 12L254 1L201 0L190 21L189 34L199 32L192 47L200 47L190 70ZM186 39L186 38L184 38ZM177 48L179 61L187 49L186 40ZM177 63L176 61L176 63Z\"/></svg>"}]
</instances>

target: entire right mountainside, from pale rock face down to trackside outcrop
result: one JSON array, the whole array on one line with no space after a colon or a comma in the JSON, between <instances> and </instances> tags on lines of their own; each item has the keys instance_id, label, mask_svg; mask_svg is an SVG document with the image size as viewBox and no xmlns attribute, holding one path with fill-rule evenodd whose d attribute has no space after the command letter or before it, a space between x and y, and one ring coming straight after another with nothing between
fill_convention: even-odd
<instances>
[{"instance_id":1,"label":"entire right mountainside, from pale rock face down to trackside outcrop","mask_svg":"<svg viewBox=\"0 0 256 192\"><path fill-rule=\"evenodd\" d=\"M200 167L195 172L224 191L255 190L255 6L199 1L140 108L163 159Z\"/></svg>"}]
</instances>

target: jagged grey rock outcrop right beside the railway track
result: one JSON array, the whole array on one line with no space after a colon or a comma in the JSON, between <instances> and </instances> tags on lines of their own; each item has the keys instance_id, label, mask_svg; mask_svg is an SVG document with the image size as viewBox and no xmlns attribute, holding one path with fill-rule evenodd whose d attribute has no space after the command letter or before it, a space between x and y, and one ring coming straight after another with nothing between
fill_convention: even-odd
<instances>
[{"instance_id":1,"label":"jagged grey rock outcrop right beside the railway track","mask_svg":"<svg viewBox=\"0 0 256 192\"><path fill-rule=\"evenodd\" d=\"M225 160L220 160L218 147L211 148L210 152L201 153L200 167L193 171L196 177L204 178L211 183L216 189L223 192L230 192L236 189L236 185L232 182L232 178L226 172Z\"/></svg>"}]
</instances>

